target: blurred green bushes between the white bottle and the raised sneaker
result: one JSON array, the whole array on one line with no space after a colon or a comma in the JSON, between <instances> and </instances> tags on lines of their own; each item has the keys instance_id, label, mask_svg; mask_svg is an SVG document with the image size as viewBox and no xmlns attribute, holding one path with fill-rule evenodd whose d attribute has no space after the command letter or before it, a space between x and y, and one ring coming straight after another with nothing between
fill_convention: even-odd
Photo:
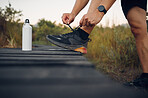
<instances>
[{"instance_id":1,"label":"blurred green bushes between the white bottle and the raised sneaker","mask_svg":"<svg viewBox=\"0 0 148 98\"><path fill-rule=\"evenodd\" d=\"M51 22L45 19L39 20L39 22L37 23L37 27L34 28L35 41L45 42L45 44L48 44L48 41L46 40L46 35L48 34L58 35L70 32L70 29L68 27L61 24L56 25L55 22Z\"/></svg>"}]
</instances>

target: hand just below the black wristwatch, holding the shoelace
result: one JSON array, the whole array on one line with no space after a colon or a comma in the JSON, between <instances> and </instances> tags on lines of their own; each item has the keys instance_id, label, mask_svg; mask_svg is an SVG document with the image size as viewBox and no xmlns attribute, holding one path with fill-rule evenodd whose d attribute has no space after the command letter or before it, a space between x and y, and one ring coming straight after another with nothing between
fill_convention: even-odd
<instances>
[{"instance_id":1,"label":"hand just below the black wristwatch, holding the shoelace","mask_svg":"<svg viewBox=\"0 0 148 98\"><path fill-rule=\"evenodd\" d=\"M80 26L95 26L98 24L101 19L103 18L104 13L99 12L97 9L93 12L85 14L82 19L80 20Z\"/></svg>"}]
</instances>

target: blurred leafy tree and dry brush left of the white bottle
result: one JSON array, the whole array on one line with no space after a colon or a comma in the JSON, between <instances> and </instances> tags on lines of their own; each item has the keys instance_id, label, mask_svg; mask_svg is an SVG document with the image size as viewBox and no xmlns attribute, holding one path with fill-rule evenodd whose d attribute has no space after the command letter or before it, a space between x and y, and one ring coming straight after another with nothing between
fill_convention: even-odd
<instances>
[{"instance_id":1,"label":"blurred leafy tree and dry brush left of the white bottle","mask_svg":"<svg viewBox=\"0 0 148 98\"><path fill-rule=\"evenodd\" d=\"M0 7L0 47L21 45L21 11L12 8L9 3L4 9Z\"/></svg>"}]
</instances>

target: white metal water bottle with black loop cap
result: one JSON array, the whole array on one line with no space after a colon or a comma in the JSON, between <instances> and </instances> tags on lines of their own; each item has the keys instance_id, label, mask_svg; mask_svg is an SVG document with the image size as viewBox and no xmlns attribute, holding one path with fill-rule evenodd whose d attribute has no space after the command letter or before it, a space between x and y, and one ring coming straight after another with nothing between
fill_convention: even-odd
<instances>
[{"instance_id":1,"label":"white metal water bottle with black loop cap","mask_svg":"<svg viewBox=\"0 0 148 98\"><path fill-rule=\"evenodd\" d=\"M25 20L22 28L22 51L32 51L32 27L29 19Z\"/></svg>"}]
</instances>

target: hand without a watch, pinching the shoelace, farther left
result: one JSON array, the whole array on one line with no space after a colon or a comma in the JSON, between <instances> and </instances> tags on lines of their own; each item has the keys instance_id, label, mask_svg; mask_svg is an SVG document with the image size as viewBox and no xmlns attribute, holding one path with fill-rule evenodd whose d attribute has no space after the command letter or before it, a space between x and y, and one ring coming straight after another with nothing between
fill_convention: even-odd
<instances>
[{"instance_id":1,"label":"hand without a watch, pinching the shoelace, farther left","mask_svg":"<svg viewBox=\"0 0 148 98\"><path fill-rule=\"evenodd\" d=\"M72 13L64 13L62 16L62 21L64 24L70 24L74 21L75 15Z\"/></svg>"}]
</instances>

